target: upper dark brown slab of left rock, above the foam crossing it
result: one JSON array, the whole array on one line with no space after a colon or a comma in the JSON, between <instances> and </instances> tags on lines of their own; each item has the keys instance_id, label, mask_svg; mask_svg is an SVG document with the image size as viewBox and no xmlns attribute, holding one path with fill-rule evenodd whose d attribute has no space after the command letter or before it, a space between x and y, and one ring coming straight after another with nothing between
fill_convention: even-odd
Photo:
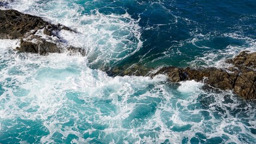
<instances>
[{"instance_id":1,"label":"upper dark brown slab of left rock, above the foam crossing it","mask_svg":"<svg viewBox=\"0 0 256 144\"><path fill-rule=\"evenodd\" d=\"M0 38L2 39L22 38L26 33L29 32L30 35L35 34L39 29L44 29L44 34L55 37L58 37L57 33L61 29L73 31L59 23L58 25L53 25L44 21L41 17L23 14L16 10L0 10L0 20Z\"/></svg>"}]
</instances>

